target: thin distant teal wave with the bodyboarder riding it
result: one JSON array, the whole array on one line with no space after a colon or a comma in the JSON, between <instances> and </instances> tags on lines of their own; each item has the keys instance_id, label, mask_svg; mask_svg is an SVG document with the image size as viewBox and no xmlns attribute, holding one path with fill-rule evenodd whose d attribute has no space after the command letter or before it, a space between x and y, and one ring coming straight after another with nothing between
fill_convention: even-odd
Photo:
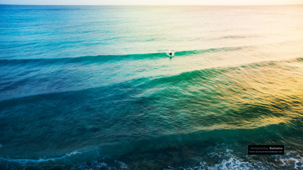
<instances>
[{"instance_id":1,"label":"thin distant teal wave with the bodyboarder riding it","mask_svg":"<svg viewBox=\"0 0 303 170\"><path fill-rule=\"evenodd\" d=\"M193 50L193 51L181 51L175 52L177 56L190 56L203 53L216 53L220 51L234 51L241 50L243 47L238 48L212 48L206 50ZM157 59L161 57L167 57L165 52L163 53L151 53L151 54L132 54L132 55L106 55L106 56L83 56L83 57L65 57L65 58L29 58L29 59L0 59L0 66L13 66L13 65L52 65L52 64L69 64L69 63L102 63L109 61L120 60L137 60L137 59Z\"/></svg>"}]
</instances>

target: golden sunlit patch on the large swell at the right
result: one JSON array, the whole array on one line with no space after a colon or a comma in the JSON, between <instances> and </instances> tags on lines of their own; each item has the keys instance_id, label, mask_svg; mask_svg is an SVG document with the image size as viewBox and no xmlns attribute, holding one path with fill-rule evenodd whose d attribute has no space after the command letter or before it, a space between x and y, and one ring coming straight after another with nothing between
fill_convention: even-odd
<instances>
[{"instance_id":1,"label":"golden sunlit patch on the large swell at the right","mask_svg":"<svg viewBox=\"0 0 303 170\"><path fill-rule=\"evenodd\" d=\"M224 111L217 104L214 105L217 112L193 113L191 119L199 119L199 116L204 118L192 130L255 129L280 123L292 124L302 117L302 69L303 63L299 58L219 70L222 74L216 74L207 81L214 83L213 90L219 94L218 99L222 101ZM207 85L202 83L201 86ZM199 93L201 88L198 86L190 91L195 88ZM203 100L199 99L200 105L203 105ZM200 107L198 110L205 109Z\"/></svg>"}]
</instances>

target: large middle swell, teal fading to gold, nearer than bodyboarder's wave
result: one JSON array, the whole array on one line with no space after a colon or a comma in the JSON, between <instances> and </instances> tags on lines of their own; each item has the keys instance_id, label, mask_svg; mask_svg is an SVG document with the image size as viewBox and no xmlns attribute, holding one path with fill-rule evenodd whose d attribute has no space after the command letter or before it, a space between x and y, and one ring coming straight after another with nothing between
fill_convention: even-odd
<instances>
[{"instance_id":1,"label":"large middle swell, teal fading to gold, nearer than bodyboarder's wave","mask_svg":"<svg viewBox=\"0 0 303 170\"><path fill-rule=\"evenodd\" d=\"M209 113L219 109L221 114L226 116L242 118L242 122L239 120L236 123L237 126L252 128L254 125L247 124L244 121L246 117L254 117L258 120L259 113L262 113L263 119L267 118L266 120L269 122L274 123L274 120L276 120L268 119L269 117L273 118L273 115L280 118L276 120L277 122L288 122L290 119L283 117L284 114L281 112L288 112L291 108L300 110L302 104L302 92L300 92L302 74L300 72L297 75L289 74L294 69L300 70L300 68L296 68L298 61L300 63L302 58L292 62L262 62L240 67L195 70L160 78L139 78L110 86L11 99L0 102L0 106L4 109L9 106L28 103L27 101L43 100L49 100L49 103L52 103L51 101L56 99L65 101L66 98L84 95L85 98L92 101L107 102L107 105L108 103L117 104L119 101L130 101L149 106L148 104L151 102L151 106L164 108L163 111L159 112L168 112L170 109L180 113L178 110L186 108L189 113L197 113L201 112L198 110L199 107L203 107L204 111L201 115L206 119L208 119L208 116L211 119L213 115ZM288 65L290 63L293 63L294 66ZM277 77L278 74L284 75L283 78ZM171 103L172 106L176 105L177 108L165 106L167 103ZM188 107L187 105L195 107ZM190 111L191 109L193 110ZM184 114L187 114L187 112ZM263 119L259 119L260 121L255 125L263 126ZM216 121L224 122L221 117L218 117ZM192 123L199 124L199 119ZM206 128L211 129L211 125L215 124L216 122L208 123ZM233 127L235 126L231 123L224 124L221 128ZM203 126L199 128L202 129Z\"/></svg>"}]
</instances>

